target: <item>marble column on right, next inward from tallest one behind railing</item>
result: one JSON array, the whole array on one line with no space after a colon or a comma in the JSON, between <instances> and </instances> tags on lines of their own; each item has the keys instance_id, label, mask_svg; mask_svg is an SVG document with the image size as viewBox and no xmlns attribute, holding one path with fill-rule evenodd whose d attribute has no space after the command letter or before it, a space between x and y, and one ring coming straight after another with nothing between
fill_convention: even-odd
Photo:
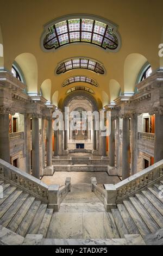
<instances>
[{"instance_id":1,"label":"marble column on right, next inward from tallest one behind railing","mask_svg":"<svg viewBox=\"0 0 163 256\"><path fill-rule=\"evenodd\" d=\"M110 136L109 136L109 166L115 166L115 120L110 119Z\"/></svg>"}]
</instances>

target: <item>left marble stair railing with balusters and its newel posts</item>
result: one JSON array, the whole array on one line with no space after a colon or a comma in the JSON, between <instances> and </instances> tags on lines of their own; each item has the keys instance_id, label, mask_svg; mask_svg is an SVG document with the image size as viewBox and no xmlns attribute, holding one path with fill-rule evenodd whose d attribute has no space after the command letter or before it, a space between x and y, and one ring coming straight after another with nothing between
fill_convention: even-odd
<instances>
[{"instance_id":1,"label":"left marble stair railing with balusters and its newel posts","mask_svg":"<svg viewBox=\"0 0 163 256\"><path fill-rule=\"evenodd\" d=\"M61 200L71 191L71 178L66 178L63 188L59 188L59 185L48 186L41 180L2 159L0 159L0 177L12 186L16 186L42 202L47 203L48 208L52 208L54 211L58 211Z\"/></svg>"}]
</instances>

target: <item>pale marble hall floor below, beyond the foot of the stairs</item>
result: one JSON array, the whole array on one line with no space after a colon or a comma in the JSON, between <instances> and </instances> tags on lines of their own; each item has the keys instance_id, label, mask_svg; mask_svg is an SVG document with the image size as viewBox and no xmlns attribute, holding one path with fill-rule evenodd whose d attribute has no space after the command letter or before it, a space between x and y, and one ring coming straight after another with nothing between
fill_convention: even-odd
<instances>
[{"instance_id":1,"label":"pale marble hall floor below, beyond the foot of the stairs","mask_svg":"<svg viewBox=\"0 0 163 256\"><path fill-rule=\"evenodd\" d=\"M118 176L109 176L106 172L55 172L53 176L43 176L42 181L47 185L64 185L66 177L71 177L71 183L91 183L91 177L96 177L98 184L117 184Z\"/></svg>"}]
</instances>

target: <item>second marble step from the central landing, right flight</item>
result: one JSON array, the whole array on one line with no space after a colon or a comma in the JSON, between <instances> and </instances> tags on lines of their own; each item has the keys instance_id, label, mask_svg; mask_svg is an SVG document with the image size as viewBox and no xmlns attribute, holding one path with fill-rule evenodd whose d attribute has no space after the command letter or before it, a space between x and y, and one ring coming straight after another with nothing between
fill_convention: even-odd
<instances>
[{"instance_id":1,"label":"second marble step from the central landing, right flight","mask_svg":"<svg viewBox=\"0 0 163 256\"><path fill-rule=\"evenodd\" d=\"M139 234L139 231L136 228L135 223L133 222L132 218L128 214L125 206L123 204L117 204L117 208L120 211L121 217L126 224L126 227L129 231L129 234Z\"/></svg>"}]
</instances>

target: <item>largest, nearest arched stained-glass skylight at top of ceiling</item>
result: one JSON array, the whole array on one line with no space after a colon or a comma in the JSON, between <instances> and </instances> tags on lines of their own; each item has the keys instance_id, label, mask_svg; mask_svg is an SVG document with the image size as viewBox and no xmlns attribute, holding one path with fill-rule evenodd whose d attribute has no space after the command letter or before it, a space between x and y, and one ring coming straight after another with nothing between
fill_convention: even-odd
<instances>
[{"instance_id":1,"label":"largest, nearest arched stained-glass skylight at top of ceiling","mask_svg":"<svg viewBox=\"0 0 163 256\"><path fill-rule=\"evenodd\" d=\"M74 17L74 16L72 16ZM60 22L51 22L45 27L42 43L46 50L59 48L73 42L87 42L110 50L120 47L120 36L116 32L117 27L111 22L94 16L76 19L64 19Z\"/></svg>"}]
</instances>

